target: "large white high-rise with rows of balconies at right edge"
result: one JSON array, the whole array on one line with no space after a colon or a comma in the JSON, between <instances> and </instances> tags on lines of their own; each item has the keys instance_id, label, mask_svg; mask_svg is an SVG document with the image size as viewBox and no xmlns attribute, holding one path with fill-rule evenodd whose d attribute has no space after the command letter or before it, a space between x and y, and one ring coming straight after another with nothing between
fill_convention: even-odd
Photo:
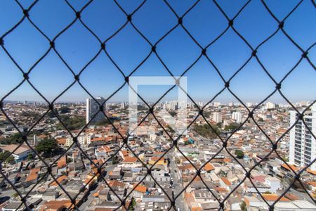
<instances>
[{"instance_id":1,"label":"large white high-rise with rows of balconies at right edge","mask_svg":"<svg viewBox=\"0 0 316 211\"><path fill-rule=\"evenodd\" d=\"M304 113L303 120L312 131L316 134L316 105L311 110ZM293 125L298 117L295 111L290 111L290 124ZM316 140L312 137L302 120L298 120L297 124L290 132L289 144L289 162L298 167L308 165L316 158ZM310 166L312 170L316 170L316 163Z\"/></svg>"}]
</instances>

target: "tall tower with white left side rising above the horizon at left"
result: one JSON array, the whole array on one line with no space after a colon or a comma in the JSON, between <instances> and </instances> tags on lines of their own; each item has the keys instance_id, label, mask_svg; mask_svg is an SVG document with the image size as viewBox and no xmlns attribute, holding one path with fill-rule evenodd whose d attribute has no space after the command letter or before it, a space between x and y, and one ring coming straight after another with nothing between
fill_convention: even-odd
<instances>
[{"instance_id":1,"label":"tall tower with white left side rising above the horizon at left","mask_svg":"<svg viewBox=\"0 0 316 211\"><path fill-rule=\"evenodd\" d=\"M96 101L98 101L98 103L102 104L105 101L105 98L97 97ZM93 98L86 99L86 124L88 124L88 122L91 120L91 118L96 113L98 113L98 111L100 110L100 106L98 105L98 103L96 101L93 100ZM105 106L104 106L104 108L105 108ZM96 115L96 117L93 118L91 123L99 122L100 120L103 120L104 118L105 118L105 115L103 115L103 113L100 112Z\"/></svg>"}]
</instances>

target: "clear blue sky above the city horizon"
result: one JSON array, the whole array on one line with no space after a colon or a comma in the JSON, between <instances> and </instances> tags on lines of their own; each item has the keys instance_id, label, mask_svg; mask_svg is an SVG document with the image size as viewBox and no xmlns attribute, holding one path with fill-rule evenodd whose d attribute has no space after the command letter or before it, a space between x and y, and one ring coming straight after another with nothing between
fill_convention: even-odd
<instances>
[{"instance_id":1,"label":"clear blue sky above the city horizon","mask_svg":"<svg viewBox=\"0 0 316 211\"><path fill-rule=\"evenodd\" d=\"M239 8L246 1L219 1L230 18L235 16ZM298 1L266 1L277 18L284 18ZM70 1L79 10L86 1ZM131 13L141 1L119 1L127 13ZM21 1L27 8L30 1ZM194 1L169 1L178 15L190 8ZM74 11L65 1L39 1L29 17L49 38L55 37L60 30L74 20ZM0 34L4 34L22 18L22 11L14 1L1 2ZM81 14L81 18L100 39L110 37L126 22L126 16L114 4L114 1L93 1ZM152 43L156 42L166 32L178 23L176 16L163 1L147 1L132 17L133 23ZM202 46L206 46L218 34L225 30L228 21L216 8L213 1L202 0L183 18L183 25ZM277 29L277 23L265 10L261 1L251 1L235 19L234 26L251 46L256 47ZM303 4L289 16L284 30L303 48L307 49L315 43L316 9L310 1ZM4 38L6 49L23 70L28 70L35 61L49 48L48 41L34 27L25 20L16 30ZM67 61L74 72L79 72L100 49L100 44L77 21L69 30L60 35L55 41L55 47ZM150 45L126 25L117 36L107 42L107 51L124 74L129 75L134 68L150 52ZM173 75L180 75L189 67L201 53L201 50L185 31L178 27L157 45L157 53L164 60ZM282 32L279 32L258 49L258 57L269 70L272 77L279 82L284 75L301 58L301 52L291 44ZM207 55L225 79L229 79L234 72L249 58L251 50L232 29L218 39L207 50ZM316 63L316 47L308 53L310 60ZM21 80L22 74L12 61L0 49L0 97L13 89ZM152 54L150 58L135 72L133 76L169 76L162 63ZM223 81L216 70L202 56L202 58L185 74L187 77L187 91L196 101L209 101L223 88ZM51 51L41 60L29 75L30 81L41 93L52 100L55 96L73 82L71 72L65 67L58 56ZM303 60L300 65L282 84L282 91L291 101L315 100L316 72ZM93 96L109 96L124 83L124 77L110 62L105 53L84 70L81 82L91 91ZM263 72L258 62L252 58L244 69L232 79L232 91L243 101L261 101L275 88L272 80ZM140 90L147 101L155 101L169 87L147 87ZM177 90L171 91L164 100L172 100ZM61 96L58 101L84 101L88 95L78 84ZM42 101L41 97L25 83L7 100ZM128 101L127 85L111 98L110 101ZM216 98L216 101L237 101L228 91ZM279 94L275 94L269 101L283 102Z\"/></svg>"}]
</instances>

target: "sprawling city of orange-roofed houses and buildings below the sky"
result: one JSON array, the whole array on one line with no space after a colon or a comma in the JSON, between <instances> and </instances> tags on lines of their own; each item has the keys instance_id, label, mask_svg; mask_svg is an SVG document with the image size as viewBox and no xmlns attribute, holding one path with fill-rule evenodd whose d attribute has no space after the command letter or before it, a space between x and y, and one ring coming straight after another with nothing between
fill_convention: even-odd
<instances>
[{"instance_id":1,"label":"sprawling city of orange-roofed houses and buildings below the sky","mask_svg":"<svg viewBox=\"0 0 316 211\"><path fill-rule=\"evenodd\" d=\"M97 101L102 104L104 98ZM310 134L316 130L316 106L308 101L293 103L298 110L310 108L303 117L305 123L299 120L290 131L297 115L289 104L263 103L254 110L254 122L247 108L252 110L257 103L245 103L247 108L237 102L197 102L199 108L185 103L185 123L195 122L179 139L166 117L158 113L167 110L176 117L183 102L158 103L153 112L157 120L148 115L132 134L129 103L105 103L104 113L98 103L91 98L86 103L55 103L54 112L45 103L4 103L6 114L17 128L0 115L2 176L9 179L1 179L3 210L25 207L11 184L22 196L29 193L26 202L35 210L72 207L62 188L76 198L82 210L114 209L121 206L118 197L127 197L129 209L168 210L169 198L178 194L176 207L180 210L212 210L220 205L216 198L223 200L232 190L225 210L268 210L264 200L273 203L281 196L295 177L291 170L299 172L316 158L315 137ZM139 103L137 109L141 122L149 108ZM18 131L25 134L27 143ZM226 150L222 147L227 139ZM277 153L270 153L273 146L269 139L277 143ZM8 153L13 154L7 157ZM51 165L51 174L47 174L44 162ZM101 173L98 167L102 167ZM199 176L195 177L199 168ZM251 170L249 178L245 179L244 170ZM302 185L312 197L316 196L315 163L275 207L315 210ZM185 191L180 192L184 187Z\"/></svg>"}]
</instances>

